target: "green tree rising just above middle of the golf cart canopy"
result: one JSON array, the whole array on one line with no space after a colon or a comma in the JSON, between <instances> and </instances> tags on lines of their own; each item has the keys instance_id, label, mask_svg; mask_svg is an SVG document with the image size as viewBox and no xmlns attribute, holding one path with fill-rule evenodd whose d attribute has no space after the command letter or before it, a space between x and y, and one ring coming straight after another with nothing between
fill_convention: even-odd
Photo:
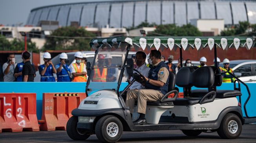
<instances>
[{"instance_id":1,"label":"green tree rising just above middle of the golf cart canopy","mask_svg":"<svg viewBox=\"0 0 256 143\"><path fill-rule=\"evenodd\" d=\"M154 32L150 32L147 36L156 35L169 35L169 36L202 36L196 27L191 24L177 26L175 24L158 25Z\"/></svg>"}]
</instances>

